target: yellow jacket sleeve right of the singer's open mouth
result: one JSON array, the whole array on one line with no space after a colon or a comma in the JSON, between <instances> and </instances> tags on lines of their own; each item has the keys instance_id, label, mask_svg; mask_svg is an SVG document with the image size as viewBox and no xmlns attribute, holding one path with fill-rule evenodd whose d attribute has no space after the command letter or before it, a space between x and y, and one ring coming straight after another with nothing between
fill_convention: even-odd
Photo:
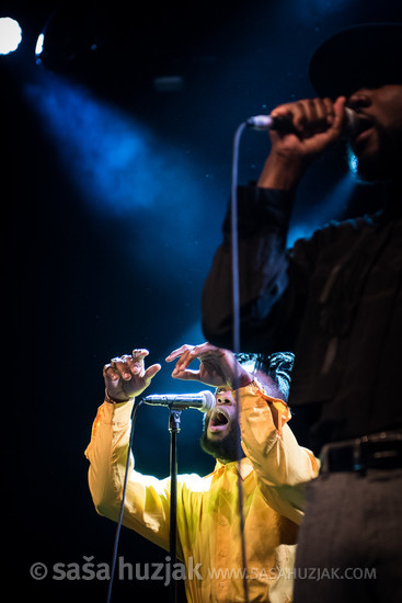
<instances>
[{"instance_id":1,"label":"yellow jacket sleeve right of the singer's open mouth","mask_svg":"<svg viewBox=\"0 0 402 603\"><path fill-rule=\"evenodd\" d=\"M299 446L287 424L288 406L267 396L257 382L239 390L242 447L259 476L268 504L282 515L300 523L305 487L317 477L319 462Z\"/></svg>"}]
</instances>

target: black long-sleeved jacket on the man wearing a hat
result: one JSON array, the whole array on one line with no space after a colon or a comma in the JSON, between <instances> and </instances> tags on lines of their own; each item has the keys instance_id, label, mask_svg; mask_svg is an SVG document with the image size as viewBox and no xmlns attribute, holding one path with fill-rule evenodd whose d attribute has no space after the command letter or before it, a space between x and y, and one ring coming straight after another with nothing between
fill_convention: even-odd
<instances>
[{"instance_id":1,"label":"black long-sleeved jacket on the man wearing a hat","mask_svg":"<svg viewBox=\"0 0 402 603\"><path fill-rule=\"evenodd\" d=\"M239 190L241 350L296 354L289 405L308 442L402 428L402 201L286 248L292 198ZM232 348L229 216L203 295L203 329ZM296 421L297 422L297 421ZM305 443L305 442L303 442Z\"/></svg>"}]
</instances>

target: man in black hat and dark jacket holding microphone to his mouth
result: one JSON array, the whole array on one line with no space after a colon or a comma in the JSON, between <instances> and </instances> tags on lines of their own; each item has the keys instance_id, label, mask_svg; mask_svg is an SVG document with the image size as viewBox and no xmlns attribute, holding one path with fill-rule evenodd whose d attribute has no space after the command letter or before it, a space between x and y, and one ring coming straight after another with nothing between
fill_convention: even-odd
<instances>
[{"instance_id":1,"label":"man in black hat and dark jacket holding microphone to his mouth","mask_svg":"<svg viewBox=\"0 0 402 603\"><path fill-rule=\"evenodd\" d=\"M241 346L295 352L289 405L322 457L299 533L295 603L402 601L401 57L402 24L324 42L310 62L317 98L273 111L292 129L271 130L257 185L239 191ZM345 130L360 179L383 184L383 207L287 249L298 184ZM228 224L203 320L208 340L230 348Z\"/></svg>"}]
</instances>

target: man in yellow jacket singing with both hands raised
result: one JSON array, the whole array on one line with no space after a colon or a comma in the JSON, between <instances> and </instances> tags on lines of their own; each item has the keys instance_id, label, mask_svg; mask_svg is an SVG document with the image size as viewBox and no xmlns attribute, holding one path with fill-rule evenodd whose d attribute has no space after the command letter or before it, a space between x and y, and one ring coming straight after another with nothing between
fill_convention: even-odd
<instances>
[{"instance_id":1,"label":"man in yellow jacket singing with both hands raised","mask_svg":"<svg viewBox=\"0 0 402 603\"><path fill-rule=\"evenodd\" d=\"M148 351L135 350L104 367L106 400L85 451L95 508L114 521L120 511L134 397L160 369L160 365L145 369L146 355ZM195 359L200 361L198 371L188 368ZM280 388L283 366L277 371L280 379L262 365L250 372L231 352L209 343L185 345L166 360L176 360L173 377L218 386L202 436L203 450L216 457L215 469L205 477L177 477L177 556L186 568L188 602L244 601L244 572L250 603L291 601L303 489L317 476L318 462L299 446L287 424L290 412ZM169 550L170 478L136 471L131 453L123 523Z\"/></svg>"}]
</instances>

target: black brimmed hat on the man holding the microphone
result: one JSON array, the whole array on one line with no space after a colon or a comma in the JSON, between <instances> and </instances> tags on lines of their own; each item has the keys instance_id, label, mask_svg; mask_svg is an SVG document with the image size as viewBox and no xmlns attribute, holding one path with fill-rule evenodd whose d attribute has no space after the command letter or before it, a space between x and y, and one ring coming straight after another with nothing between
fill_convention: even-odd
<instances>
[{"instance_id":1,"label":"black brimmed hat on the man holding the microphone","mask_svg":"<svg viewBox=\"0 0 402 603\"><path fill-rule=\"evenodd\" d=\"M317 94L332 99L402 83L402 23L365 23L336 33L313 54L309 76Z\"/></svg>"}]
</instances>

